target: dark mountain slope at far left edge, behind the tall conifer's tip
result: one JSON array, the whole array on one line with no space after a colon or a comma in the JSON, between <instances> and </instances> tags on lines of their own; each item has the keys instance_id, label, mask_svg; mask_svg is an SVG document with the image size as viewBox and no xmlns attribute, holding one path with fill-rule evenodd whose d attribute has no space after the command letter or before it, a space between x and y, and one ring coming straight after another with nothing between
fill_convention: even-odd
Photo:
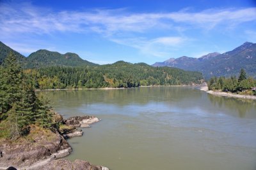
<instances>
[{"instance_id":1,"label":"dark mountain slope at far left edge, behind the tall conifer's tip","mask_svg":"<svg viewBox=\"0 0 256 170\"><path fill-rule=\"evenodd\" d=\"M10 52L14 53L19 62L25 62L26 57L24 57L24 55L21 55L19 52L16 52L15 50L7 45L4 45L4 43L0 41L0 65L3 63L4 59L8 56Z\"/></svg>"}]
</instances>

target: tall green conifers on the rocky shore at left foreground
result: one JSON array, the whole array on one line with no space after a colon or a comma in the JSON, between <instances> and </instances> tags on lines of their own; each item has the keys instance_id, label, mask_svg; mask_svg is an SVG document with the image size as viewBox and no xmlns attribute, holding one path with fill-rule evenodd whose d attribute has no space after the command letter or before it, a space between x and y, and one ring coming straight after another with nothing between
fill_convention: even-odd
<instances>
[{"instance_id":1,"label":"tall green conifers on the rocky shore at left foreground","mask_svg":"<svg viewBox=\"0 0 256 170\"><path fill-rule=\"evenodd\" d=\"M30 78L13 53L0 66L0 138L15 140L29 133L29 125L54 127L48 101L36 97Z\"/></svg>"}]
</instances>

